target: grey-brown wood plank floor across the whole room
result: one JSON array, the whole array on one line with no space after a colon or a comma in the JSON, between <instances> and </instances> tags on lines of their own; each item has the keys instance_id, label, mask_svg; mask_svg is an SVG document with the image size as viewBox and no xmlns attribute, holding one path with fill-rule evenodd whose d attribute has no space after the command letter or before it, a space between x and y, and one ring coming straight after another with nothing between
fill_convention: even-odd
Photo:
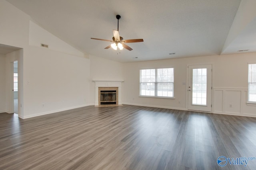
<instances>
[{"instance_id":1,"label":"grey-brown wood plank floor across the whole room","mask_svg":"<svg viewBox=\"0 0 256 170\"><path fill-rule=\"evenodd\" d=\"M0 169L253 170L256 118L151 107L82 107L19 119L0 113Z\"/></svg>"}]
</instances>

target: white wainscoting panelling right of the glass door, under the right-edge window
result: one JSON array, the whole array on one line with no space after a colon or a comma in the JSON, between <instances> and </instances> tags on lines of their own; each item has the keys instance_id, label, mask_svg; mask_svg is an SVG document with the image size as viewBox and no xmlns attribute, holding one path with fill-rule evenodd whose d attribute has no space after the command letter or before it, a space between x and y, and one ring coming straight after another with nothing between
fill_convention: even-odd
<instances>
[{"instance_id":1,"label":"white wainscoting panelling right of the glass door, under the right-edge window","mask_svg":"<svg viewBox=\"0 0 256 170\"><path fill-rule=\"evenodd\" d=\"M214 88L213 113L256 117L256 104L247 103L247 88Z\"/></svg>"}]
</instances>

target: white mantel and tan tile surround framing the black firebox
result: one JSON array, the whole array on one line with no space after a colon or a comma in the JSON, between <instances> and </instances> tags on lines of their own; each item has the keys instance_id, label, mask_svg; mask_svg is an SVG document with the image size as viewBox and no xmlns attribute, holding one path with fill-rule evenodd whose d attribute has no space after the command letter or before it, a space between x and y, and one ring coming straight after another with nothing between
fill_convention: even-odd
<instances>
[{"instance_id":1,"label":"white mantel and tan tile surround framing the black firebox","mask_svg":"<svg viewBox=\"0 0 256 170\"><path fill-rule=\"evenodd\" d=\"M102 89L102 88L106 88L108 90L110 90L111 88L118 88L118 91L117 91L117 99L118 101L116 102L118 105L121 105L122 104L122 99L121 99L121 92L122 92L122 82L124 81L96 81L96 80L93 80L95 82L95 106L99 106L99 88Z\"/></svg>"}]
</instances>

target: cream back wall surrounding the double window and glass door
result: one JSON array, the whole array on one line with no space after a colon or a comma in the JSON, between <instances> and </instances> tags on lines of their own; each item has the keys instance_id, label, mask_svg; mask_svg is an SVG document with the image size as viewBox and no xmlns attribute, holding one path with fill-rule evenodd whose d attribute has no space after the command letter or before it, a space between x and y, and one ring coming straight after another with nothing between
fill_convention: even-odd
<instances>
[{"instance_id":1,"label":"cream back wall surrounding the double window and glass door","mask_svg":"<svg viewBox=\"0 0 256 170\"><path fill-rule=\"evenodd\" d=\"M163 107L172 109L187 109L186 82L189 64L213 64L213 112L232 115L256 117L256 105L246 104L246 89L248 88L248 62L256 62L256 53L236 55L221 55L210 57L193 57L184 59L169 59L124 64L123 103ZM175 99L139 97L139 70L142 68L174 67L174 97ZM224 90L225 92L220 92ZM229 107L232 104L233 107Z\"/></svg>"}]
</instances>

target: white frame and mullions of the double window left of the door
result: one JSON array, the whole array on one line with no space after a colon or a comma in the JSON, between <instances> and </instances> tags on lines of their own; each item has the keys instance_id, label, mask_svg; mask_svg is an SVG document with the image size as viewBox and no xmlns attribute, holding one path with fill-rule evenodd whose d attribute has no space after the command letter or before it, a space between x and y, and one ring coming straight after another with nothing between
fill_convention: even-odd
<instances>
[{"instance_id":1,"label":"white frame and mullions of the double window left of the door","mask_svg":"<svg viewBox=\"0 0 256 170\"><path fill-rule=\"evenodd\" d=\"M157 82L157 72L158 72L158 69L166 69L166 68L143 68L143 69L140 69L140 97L149 97L149 98L169 98L169 99L174 99L174 67L168 67L168 68L172 68L173 69L173 82ZM155 70L155 82L152 82L154 83L154 96L147 96L147 95L141 95L141 84L142 83L149 83L149 82L142 82L141 79L142 79L142 75L141 75L141 71L142 70ZM158 84L159 83L172 83L172 97L168 97L168 96L157 96L158 95Z\"/></svg>"}]
</instances>

